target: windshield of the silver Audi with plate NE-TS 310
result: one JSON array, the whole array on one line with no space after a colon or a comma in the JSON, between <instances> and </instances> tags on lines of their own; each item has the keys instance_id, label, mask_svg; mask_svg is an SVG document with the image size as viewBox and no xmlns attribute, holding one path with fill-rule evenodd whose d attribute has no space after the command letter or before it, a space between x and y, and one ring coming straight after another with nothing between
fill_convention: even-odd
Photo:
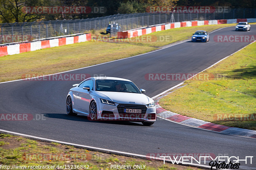
<instances>
[{"instance_id":1,"label":"windshield of the silver Audi with plate NE-TS 310","mask_svg":"<svg viewBox=\"0 0 256 170\"><path fill-rule=\"evenodd\" d=\"M95 81L96 91L141 93L130 81L100 79Z\"/></svg>"}]
</instances>

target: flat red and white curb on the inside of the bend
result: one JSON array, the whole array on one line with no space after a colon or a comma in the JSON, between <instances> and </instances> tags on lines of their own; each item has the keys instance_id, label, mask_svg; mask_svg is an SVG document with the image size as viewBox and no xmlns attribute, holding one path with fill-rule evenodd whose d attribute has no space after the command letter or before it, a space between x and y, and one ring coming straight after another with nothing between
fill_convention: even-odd
<instances>
[{"instance_id":1,"label":"flat red and white curb on the inside of the bend","mask_svg":"<svg viewBox=\"0 0 256 170\"><path fill-rule=\"evenodd\" d=\"M156 100L156 115L172 122L194 126L201 129L207 129L215 132L221 132L231 135L251 137L256 139L256 130L234 128L229 126L218 125L210 122L205 122L188 116L183 116L177 113L170 112L162 108Z\"/></svg>"}]
</instances>

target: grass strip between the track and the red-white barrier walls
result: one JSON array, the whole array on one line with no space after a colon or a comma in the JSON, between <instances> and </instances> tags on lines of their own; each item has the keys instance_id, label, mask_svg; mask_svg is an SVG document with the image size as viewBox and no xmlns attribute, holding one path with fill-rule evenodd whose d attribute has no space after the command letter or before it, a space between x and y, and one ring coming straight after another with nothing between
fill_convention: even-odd
<instances>
[{"instance_id":1,"label":"grass strip between the track and the red-white barrier walls","mask_svg":"<svg viewBox=\"0 0 256 170\"><path fill-rule=\"evenodd\" d=\"M188 39L198 29L210 32L221 27L234 25L182 27L148 34L156 37L160 35L170 36L170 39L165 41L133 42L134 40L132 40L131 42L126 39L122 40L124 42L113 43L92 40L16 55L6 55L0 57L0 82L21 79L24 74L53 74L143 54L156 50L163 45ZM103 34L103 31L94 31L94 33L100 35Z\"/></svg>"}]
</instances>

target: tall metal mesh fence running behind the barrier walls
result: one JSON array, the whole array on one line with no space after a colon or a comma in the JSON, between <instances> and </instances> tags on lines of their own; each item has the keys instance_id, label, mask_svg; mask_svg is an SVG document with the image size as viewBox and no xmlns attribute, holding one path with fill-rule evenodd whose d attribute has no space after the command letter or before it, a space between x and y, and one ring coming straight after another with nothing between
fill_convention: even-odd
<instances>
[{"instance_id":1,"label":"tall metal mesh fence running behind the barrier walls","mask_svg":"<svg viewBox=\"0 0 256 170\"><path fill-rule=\"evenodd\" d=\"M49 38L87 30L106 29L109 23L118 23L121 31L144 26L191 20L256 18L256 9L231 9L228 13L134 13L107 17L0 24L0 44Z\"/></svg>"}]
</instances>

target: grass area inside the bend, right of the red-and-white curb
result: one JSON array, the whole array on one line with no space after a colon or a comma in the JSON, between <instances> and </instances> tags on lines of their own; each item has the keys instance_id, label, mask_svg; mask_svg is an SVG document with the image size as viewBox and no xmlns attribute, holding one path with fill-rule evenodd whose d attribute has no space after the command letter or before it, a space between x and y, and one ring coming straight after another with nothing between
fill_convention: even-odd
<instances>
[{"instance_id":1,"label":"grass area inside the bend, right of the red-and-white curb","mask_svg":"<svg viewBox=\"0 0 256 170\"><path fill-rule=\"evenodd\" d=\"M256 43L203 72L213 79L186 86L159 104L172 112L220 125L256 130Z\"/></svg>"}]
</instances>

